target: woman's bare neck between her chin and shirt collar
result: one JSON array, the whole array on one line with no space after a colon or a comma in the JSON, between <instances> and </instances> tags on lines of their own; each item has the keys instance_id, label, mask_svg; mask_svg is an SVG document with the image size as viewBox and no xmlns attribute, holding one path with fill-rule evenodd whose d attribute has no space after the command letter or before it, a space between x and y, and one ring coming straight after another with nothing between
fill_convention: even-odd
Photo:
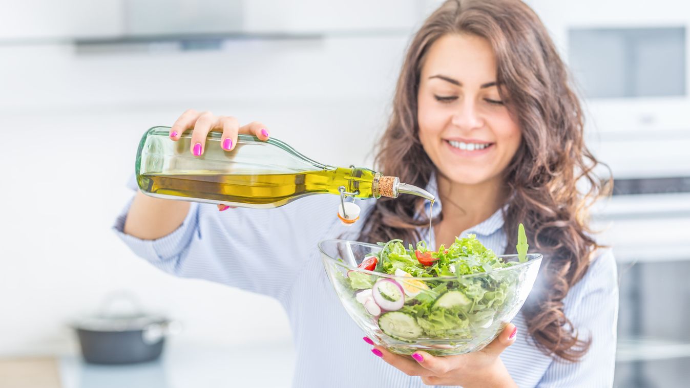
<instances>
[{"instance_id":1,"label":"woman's bare neck between her chin and shirt collar","mask_svg":"<svg viewBox=\"0 0 690 388\"><path fill-rule=\"evenodd\" d=\"M489 218L506 200L506 187L500 176L475 185L464 185L437 174L437 183L443 203L443 228L450 228L456 236Z\"/></svg>"}]
</instances>

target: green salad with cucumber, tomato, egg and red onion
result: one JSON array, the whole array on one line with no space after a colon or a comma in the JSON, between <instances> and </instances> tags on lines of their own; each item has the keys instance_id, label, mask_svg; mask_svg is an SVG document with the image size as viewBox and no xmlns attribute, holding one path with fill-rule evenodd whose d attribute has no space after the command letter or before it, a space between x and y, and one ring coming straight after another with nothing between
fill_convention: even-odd
<instances>
[{"instance_id":1,"label":"green salad with cucumber, tomato, egg and red onion","mask_svg":"<svg viewBox=\"0 0 690 388\"><path fill-rule=\"evenodd\" d=\"M379 252L358 265L366 271L341 273L340 280L357 301L355 308L364 310L384 334L408 343L462 340L501 325L494 318L502 307L513 305L520 279L519 272L498 269L526 261L527 250L522 224L518 261L504 261L473 234L435 251L424 241L408 247L401 240L379 245ZM475 274L480 276L466 276Z\"/></svg>"}]
</instances>

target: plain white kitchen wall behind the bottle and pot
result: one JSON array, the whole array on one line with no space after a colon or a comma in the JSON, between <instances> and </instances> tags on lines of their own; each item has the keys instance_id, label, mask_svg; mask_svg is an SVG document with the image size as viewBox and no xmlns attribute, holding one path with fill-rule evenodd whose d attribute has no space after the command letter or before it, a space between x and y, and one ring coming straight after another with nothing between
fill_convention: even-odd
<instances>
[{"instance_id":1,"label":"plain white kitchen wall behind the bottle and pot","mask_svg":"<svg viewBox=\"0 0 690 388\"><path fill-rule=\"evenodd\" d=\"M236 42L217 52L117 55L0 48L0 305L11 317L0 324L0 353L62 349L70 339L63 324L115 289L179 318L189 340L287 340L275 301L161 274L110 231L132 195L124 185L139 139L195 108L263 121L317 161L366 165L405 42ZM243 310L255 319L237 319Z\"/></svg>"}]
</instances>

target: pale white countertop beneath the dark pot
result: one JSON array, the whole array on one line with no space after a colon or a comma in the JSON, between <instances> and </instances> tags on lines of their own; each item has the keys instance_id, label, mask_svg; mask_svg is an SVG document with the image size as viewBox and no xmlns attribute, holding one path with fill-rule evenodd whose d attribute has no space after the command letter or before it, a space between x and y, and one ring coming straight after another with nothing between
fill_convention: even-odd
<instances>
[{"instance_id":1,"label":"pale white countertop beneath the dark pot","mask_svg":"<svg viewBox=\"0 0 690 388\"><path fill-rule=\"evenodd\" d=\"M159 360L92 365L79 355L58 358L63 388L290 387L291 344L217 346L166 344Z\"/></svg>"}]
</instances>

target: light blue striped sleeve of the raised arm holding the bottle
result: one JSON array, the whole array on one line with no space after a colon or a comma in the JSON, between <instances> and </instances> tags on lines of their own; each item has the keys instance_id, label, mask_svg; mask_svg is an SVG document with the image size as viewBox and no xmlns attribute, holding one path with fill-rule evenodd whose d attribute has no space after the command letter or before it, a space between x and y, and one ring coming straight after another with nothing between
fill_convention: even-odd
<instances>
[{"instance_id":1,"label":"light blue striped sleeve of the raised arm holding the bottle","mask_svg":"<svg viewBox=\"0 0 690 388\"><path fill-rule=\"evenodd\" d=\"M317 243L336 224L327 210L337 210L337 199L308 196L273 209L225 212L192 203L183 223L157 240L123 232L130 201L113 229L135 254L165 272L281 300L304 262L318 258Z\"/></svg>"}]
</instances>

